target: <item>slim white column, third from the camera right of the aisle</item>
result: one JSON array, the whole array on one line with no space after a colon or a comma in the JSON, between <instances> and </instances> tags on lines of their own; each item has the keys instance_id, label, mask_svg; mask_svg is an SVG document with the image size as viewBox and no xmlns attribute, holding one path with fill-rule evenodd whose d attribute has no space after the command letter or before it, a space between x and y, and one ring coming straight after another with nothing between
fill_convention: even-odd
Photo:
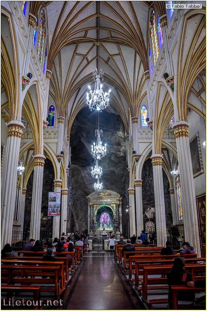
<instances>
[{"instance_id":1,"label":"slim white column, third from the camera right of the aisle","mask_svg":"<svg viewBox=\"0 0 207 311\"><path fill-rule=\"evenodd\" d=\"M142 208L142 179L134 180L137 213L137 236L144 230Z\"/></svg>"}]
</instances>

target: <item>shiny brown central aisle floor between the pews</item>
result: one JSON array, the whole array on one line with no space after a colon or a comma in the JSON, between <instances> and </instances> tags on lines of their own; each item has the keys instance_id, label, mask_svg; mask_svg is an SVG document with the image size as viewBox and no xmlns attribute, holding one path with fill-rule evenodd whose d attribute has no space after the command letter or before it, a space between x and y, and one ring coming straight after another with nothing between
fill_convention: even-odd
<instances>
[{"instance_id":1,"label":"shiny brown central aisle floor between the pews","mask_svg":"<svg viewBox=\"0 0 207 311\"><path fill-rule=\"evenodd\" d=\"M146 309L114 260L114 253L91 251L71 277L61 297L63 310Z\"/></svg>"}]
</instances>

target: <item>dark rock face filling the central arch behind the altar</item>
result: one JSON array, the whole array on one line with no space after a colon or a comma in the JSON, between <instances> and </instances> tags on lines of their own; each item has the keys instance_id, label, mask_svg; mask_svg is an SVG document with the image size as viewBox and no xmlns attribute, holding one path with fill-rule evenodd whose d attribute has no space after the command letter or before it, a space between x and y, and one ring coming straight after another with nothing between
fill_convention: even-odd
<instances>
[{"instance_id":1,"label":"dark rock face filling the central arch behind the altar","mask_svg":"<svg viewBox=\"0 0 207 311\"><path fill-rule=\"evenodd\" d=\"M107 148L107 155L99 161L103 172L100 183L102 183L103 189L115 191L123 196L126 206L128 171L126 169L124 125L118 115L110 114L105 110L99 113L99 128L103 130L101 142L102 145L106 144ZM94 192L93 187L96 182L96 179L91 176L91 168L95 165L91 155L91 146L93 142L95 144L97 142L95 135L95 130L98 127L97 122L97 111L91 112L86 107L75 118L70 132L72 202L69 222L72 232L75 230L88 232L88 200L86 196Z\"/></svg>"}]
</instances>

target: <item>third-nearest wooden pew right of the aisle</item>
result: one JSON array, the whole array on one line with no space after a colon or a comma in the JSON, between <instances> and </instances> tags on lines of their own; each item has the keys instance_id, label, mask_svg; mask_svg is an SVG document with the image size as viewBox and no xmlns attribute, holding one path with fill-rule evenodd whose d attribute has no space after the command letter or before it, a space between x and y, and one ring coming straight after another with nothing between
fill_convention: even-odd
<instances>
[{"instance_id":1,"label":"third-nearest wooden pew right of the aisle","mask_svg":"<svg viewBox=\"0 0 207 311\"><path fill-rule=\"evenodd\" d=\"M173 256L173 258L172 258L172 256ZM178 255L160 255L160 256L156 256L156 258L151 258L151 260L148 260L147 258L145 259L142 257L140 257L139 260L137 260L137 258L136 258L136 260L135 260L135 272L134 272L134 274L135 274L134 286L140 295L142 292L142 285L140 286L139 282L143 280L143 277L140 278L140 275L143 276L143 267L145 267L146 264L148 264L147 265L147 267L148 267L149 265L159 264L162 262L165 262L164 265L166 265L166 264L169 265L170 261L171 261L171 264L173 265L174 258L176 258L177 256ZM188 258L186 258L187 256L188 256ZM192 264L192 263L196 264L197 262L200 262L200 263L203 262L203 258L196 258L195 254L185 254L185 255L180 255L180 257L185 259L186 265ZM205 263L205 262L203 262L203 263Z\"/></svg>"}]
</instances>

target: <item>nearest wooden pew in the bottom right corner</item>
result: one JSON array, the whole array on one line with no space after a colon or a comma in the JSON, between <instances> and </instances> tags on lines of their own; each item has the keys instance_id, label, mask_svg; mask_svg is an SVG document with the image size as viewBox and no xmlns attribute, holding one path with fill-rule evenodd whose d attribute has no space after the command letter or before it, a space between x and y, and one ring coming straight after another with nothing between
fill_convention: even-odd
<instances>
[{"instance_id":1,"label":"nearest wooden pew in the bottom right corner","mask_svg":"<svg viewBox=\"0 0 207 311\"><path fill-rule=\"evenodd\" d=\"M183 291L189 292L189 296L194 295L197 292L205 292L205 288L200 288L200 287L188 287L187 285L171 285L172 289L172 297L173 297L173 310L180 310L180 309L194 309L194 310L206 310L205 305L198 305L198 304L193 304L193 305L183 305L183 304L178 304L178 292L182 293Z\"/></svg>"}]
</instances>

